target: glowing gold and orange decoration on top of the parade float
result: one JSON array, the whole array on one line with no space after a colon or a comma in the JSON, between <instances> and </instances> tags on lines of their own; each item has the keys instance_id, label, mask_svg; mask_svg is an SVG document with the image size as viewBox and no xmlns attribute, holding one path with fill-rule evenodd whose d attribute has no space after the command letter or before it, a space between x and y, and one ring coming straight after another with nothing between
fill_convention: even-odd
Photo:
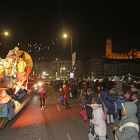
<instances>
[{"instance_id":1,"label":"glowing gold and orange decoration on top of the parade float","mask_svg":"<svg viewBox=\"0 0 140 140\"><path fill-rule=\"evenodd\" d=\"M11 99L22 103L28 97L24 83L32 67L31 56L18 47L10 50L6 59L0 59L0 104L6 104Z\"/></svg>"}]
</instances>

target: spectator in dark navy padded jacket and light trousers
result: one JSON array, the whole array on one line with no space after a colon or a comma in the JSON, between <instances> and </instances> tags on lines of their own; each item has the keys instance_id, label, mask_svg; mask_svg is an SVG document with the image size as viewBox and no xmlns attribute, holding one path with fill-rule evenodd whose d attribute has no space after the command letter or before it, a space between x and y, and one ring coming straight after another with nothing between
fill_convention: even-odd
<instances>
[{"instance_id":1,"label":"spectator in dark navy padded jacket and light trousers","mask_svg":"<svg viewBox=\"0 0 140 140\"><path fill-rule=\"evenodd\" d=\"M107 112L107 124L109 125L110 122L113 123L114 119L113 119L113 115L115 114L115 104L114 101L116 100L116 95L115 95L115 91L114 90L110 90L109 91L109 95L107 96L107 108L108 108L108 112ZM110 119L111 118L111 121Z\"/></svg>"}]
</instances>

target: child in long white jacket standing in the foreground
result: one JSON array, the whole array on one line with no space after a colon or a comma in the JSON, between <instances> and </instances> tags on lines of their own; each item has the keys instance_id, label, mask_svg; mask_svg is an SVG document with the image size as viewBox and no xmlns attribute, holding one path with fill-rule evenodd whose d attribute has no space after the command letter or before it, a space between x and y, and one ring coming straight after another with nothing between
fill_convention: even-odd
<instances>
[{"instance_id":1,"label":"child in long white jacket standing in the foreground","mask_svg":"<svg viewBox=\"0 0 140 140\"><path fill-rule=\"evenodd\" d=\"M95 140L98 135L99 140L106 140L106 123L103 119L104 111L102 102L98 96L92 99L92 104L87 104L93 109L92 119L90 119L90 127L94 125L94 135L90 132L88 134L89 140Z\"/></svg>"}]
</instances>

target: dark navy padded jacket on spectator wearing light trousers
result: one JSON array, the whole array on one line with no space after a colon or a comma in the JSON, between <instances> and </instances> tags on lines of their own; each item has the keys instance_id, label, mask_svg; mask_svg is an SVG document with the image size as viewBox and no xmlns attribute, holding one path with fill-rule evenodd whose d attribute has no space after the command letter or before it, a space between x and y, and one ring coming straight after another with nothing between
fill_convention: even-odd
<instances>
[{"instance_id":1,"label":"dark navy padded jacket on spectator wearing light trousers","mask_svg":"<svg viewBox=\"0 0 140 140\"><path fill-rule=\"evenodd\" d=\"M114 101L116 100L116 95L115 94L109 94L106 98L107 100L107 108L108 112L107 114L114 115L115 114L115 104Z\"/></svg>"}]
</instances>

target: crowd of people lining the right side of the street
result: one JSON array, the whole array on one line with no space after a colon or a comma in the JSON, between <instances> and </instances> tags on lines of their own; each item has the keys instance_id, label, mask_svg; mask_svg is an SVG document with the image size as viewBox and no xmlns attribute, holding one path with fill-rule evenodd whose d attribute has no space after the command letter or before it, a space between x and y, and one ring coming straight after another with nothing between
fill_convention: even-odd
<instances>
[{"instance_id":1,"label":"crowd of people lining the right side of the street","mask_svg":"<svg viewBox=\"0 0 140 140\"><path fill-rule=\"evenodd\" d=\"M134 85L130 85L130 91L122 91L122 82L111 78L107 82L96 81L94 87L89 87L89 83L82 84L83 81L66 81L51 83L60 91L61 105L70 109L70 99L77 98L77 91L80 91L89 119L90 133L89 140L96 137L99 140L108 140L107 125L112 125L115 131L116 140L139 140L140 139L140 95ZM117 126L115 120L119 120Z\"/></svg>"}]
</instances>

